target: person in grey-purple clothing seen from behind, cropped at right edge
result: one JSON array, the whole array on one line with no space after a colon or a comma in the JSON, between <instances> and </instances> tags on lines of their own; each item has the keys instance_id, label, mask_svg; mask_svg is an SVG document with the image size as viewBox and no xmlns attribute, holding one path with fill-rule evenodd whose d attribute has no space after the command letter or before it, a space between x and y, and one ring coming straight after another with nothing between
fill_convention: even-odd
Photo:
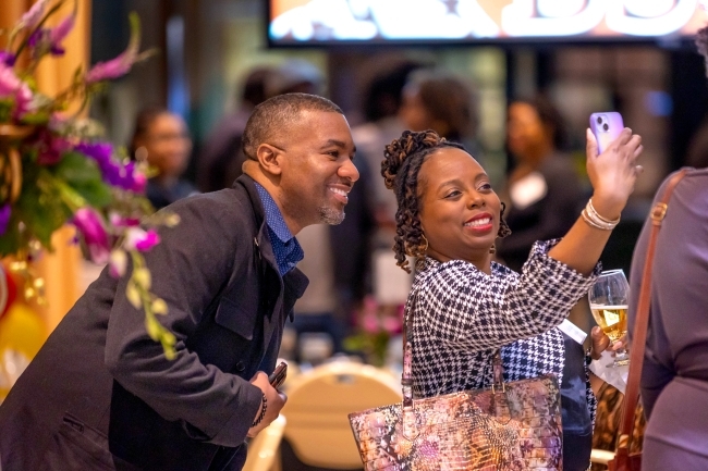
<instances>
[{"instance_id":1,"label":"person in grey-purple clothing seen from behind, cropped at right edge","mask_svg":"<svg viewBox=\"0 0 708 471\"><path fill-rule=\"evenodd\" d=\"M632 259L630 333L652 222L645 223ZM647 418L642 469L708 470L708 169L691 171L676 185L651 277L640 383Z\"/></svg>"}]
</instances>

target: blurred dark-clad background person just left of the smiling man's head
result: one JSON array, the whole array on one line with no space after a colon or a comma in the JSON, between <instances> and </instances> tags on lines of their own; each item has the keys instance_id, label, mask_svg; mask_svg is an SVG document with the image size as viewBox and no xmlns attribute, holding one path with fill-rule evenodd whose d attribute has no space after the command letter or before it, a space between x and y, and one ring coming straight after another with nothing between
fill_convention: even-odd
<instances>
[{"instance_id":1,"label":"blurred dark-clad background person just left of the smiling man's head","mask_svg":"<svg viewBox=\"0 0 708 471\"><path fill-rule=\"evenodd\" d=\"M197 161L197 185L202 191L229 188L241 175L246 160L242 149L243 131L257 104L266 101L266 82L273 69L259 66L246 76L241 90L241 104L224 116L211 132Z\"/></svg>"}]
</instances>

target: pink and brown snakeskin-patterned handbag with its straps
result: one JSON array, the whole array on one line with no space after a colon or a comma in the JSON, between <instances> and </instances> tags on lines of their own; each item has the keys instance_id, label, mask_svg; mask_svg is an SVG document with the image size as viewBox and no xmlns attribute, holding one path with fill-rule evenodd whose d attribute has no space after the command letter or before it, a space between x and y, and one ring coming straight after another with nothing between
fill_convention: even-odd
<instances>
[{"instance_id":1,"label":"pink and brown snakeskin-patterned handbag with its straps","mask_svg":"<svg viewBox=\"0 0 708 471\"><path fill-rule=\"evenodd\" d=\"M349 416L365 471L562 470L561 396L553 374L504 383L497 351L490 389L413 399L413 311L412 306L403 332L403 404Z\"/></svg>"}]
</instances>

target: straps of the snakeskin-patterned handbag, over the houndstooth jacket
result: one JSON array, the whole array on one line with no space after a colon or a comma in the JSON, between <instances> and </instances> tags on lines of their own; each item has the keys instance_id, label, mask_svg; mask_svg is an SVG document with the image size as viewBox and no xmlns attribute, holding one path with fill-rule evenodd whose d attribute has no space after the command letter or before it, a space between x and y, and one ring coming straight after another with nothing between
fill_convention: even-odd
<instances>
[{"instance_id":1,"label":"straps of the snakeskin-patterned handbag, over the houndstooth jacket","mask_svg":"<svg viewBox=\"0 0 708 471\"><path fill-rule=\"evenodd\" d=\"M418 300L418 292L414 290L411 301L406 303L403 313L403 373L401 387L403 389L403 436L414 438L415 419L413 414L413 313ZM497 349L492 358L492 392L503 393L504 370L501 361L501 350Z\"/></svg>"}]
</instances>

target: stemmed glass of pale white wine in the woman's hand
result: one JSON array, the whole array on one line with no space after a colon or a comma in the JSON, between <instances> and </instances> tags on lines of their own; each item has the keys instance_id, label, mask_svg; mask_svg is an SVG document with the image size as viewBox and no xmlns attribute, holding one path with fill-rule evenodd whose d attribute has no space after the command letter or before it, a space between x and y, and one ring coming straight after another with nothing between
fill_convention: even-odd
<instances>
[{"instance_id":1,"label":"stemmed glass of pale white wine in the woman's hand","mask_svg":"<svg viewBox=\"0 0 708 471\"><path fill-rule=\"evenodd\" d=\"M613 343L627 333L627 308L630 284L622 270L600 273L588 294L590 310L595 322ZM630 355L622 348L615 351L614 361L609 367L630 364Z\"/></svg>"}]
</instances>

